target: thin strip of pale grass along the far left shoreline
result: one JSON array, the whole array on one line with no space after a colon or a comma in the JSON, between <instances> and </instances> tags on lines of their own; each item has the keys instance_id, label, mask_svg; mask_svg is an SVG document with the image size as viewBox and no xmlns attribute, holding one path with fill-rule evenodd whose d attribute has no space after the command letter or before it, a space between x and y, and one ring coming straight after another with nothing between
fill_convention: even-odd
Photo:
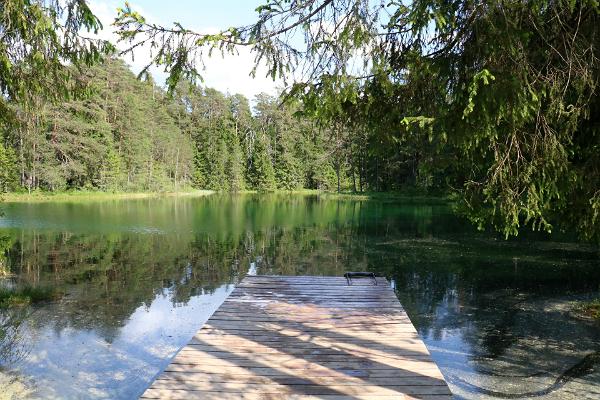
<instances>
[{"instance_id":1,"label":"thin strip of pale grass along the far left shoreline","mask_svg":"<svg viewBox=\"0 0 600 400\"><path fill-rule=\"evenodd\" d=\"M9 203L35 203L48 201L97 201L97 200L127 200L145 199L152 197L171 196L208 196L211 190L186 190L179 192L100 192L92 190L72 190L66 192L34 191L31 193L5 193L1 198Z\"/></svg>"}]
</instances>

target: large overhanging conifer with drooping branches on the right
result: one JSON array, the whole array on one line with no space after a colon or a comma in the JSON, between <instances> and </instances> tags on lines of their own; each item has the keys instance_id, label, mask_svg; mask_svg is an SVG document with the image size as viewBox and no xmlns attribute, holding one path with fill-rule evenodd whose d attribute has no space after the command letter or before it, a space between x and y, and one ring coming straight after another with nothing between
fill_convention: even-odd
<instances>
[{"instance_id":1,"label":"large overhanging conifer with drooping branches on the right","mask_svg":"<svg viewBox=\"0 0 600 400\"><path fill-rule=\"evenodd\" d=\"M175 80L195 71L192 55L236 44L253 46L273 77L305 71L286 99L329 131L336 178L349 173L358 190L451 190L482 229L600 240L597 1L273 0L257 10L256 23L217 35L149 25L130 9L117 26L132 45L152 37L154 61ZM288 150L274 153L283 186L295 174Z\"/></svg>"}]
</instances>

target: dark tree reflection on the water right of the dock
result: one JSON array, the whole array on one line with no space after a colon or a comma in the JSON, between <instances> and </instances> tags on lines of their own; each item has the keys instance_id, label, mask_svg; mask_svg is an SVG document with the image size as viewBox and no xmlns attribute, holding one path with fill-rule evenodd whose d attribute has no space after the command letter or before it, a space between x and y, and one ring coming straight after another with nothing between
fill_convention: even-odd
<instances>
[{"instance_id":1,"label":"dark tree reflection on the water right of the dock","mask_svg":"<svg viewBox=\"0 0 600 400\"><path fill-rule=\"evenodd\" d=\"M440 236L445 240L400 234L378 246L382 257L398 255L393 267L391 260L384 263L387 275L425 337L460 331L472 366L498 379L540 371L553 376L595 349L597 333L552 303L598 290L593 250L535 240L498 243L482 235Z\"/></svg>"}]
</instances>

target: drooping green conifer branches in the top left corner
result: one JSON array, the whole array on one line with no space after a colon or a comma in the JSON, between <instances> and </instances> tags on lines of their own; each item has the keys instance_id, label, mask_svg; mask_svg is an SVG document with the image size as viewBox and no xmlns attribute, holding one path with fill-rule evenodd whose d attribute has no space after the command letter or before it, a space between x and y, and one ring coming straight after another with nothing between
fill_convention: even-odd
<instances>
[{"instance_id":1,"label":"drooping green conifer branches in the top left corner","mask_svg":"<svg viewBox=\"0 0 600 400\"><path fill-rule=\"evenodd\" d=\"M0 26L1 122L12 116L8 101L31 108L38 97L57 101L80 93L68 66L89 66L113 51L110 43L85 37L102 28L85 1L4 0Z\"/></svg>"}]
</instances>

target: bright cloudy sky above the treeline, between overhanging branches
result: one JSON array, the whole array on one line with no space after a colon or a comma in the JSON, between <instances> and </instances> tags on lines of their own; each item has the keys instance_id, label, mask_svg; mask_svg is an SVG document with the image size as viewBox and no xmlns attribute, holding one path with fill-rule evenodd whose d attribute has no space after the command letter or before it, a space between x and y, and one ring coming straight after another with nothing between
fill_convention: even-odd
<instances>
[{"instance_id":1,"label":"bright cloudy sky above the treeline, between overhanging branches","mask_svg":"<svg viewBox=\"0 0 600 400\"><path fill-rule=\"evenodd\" d=\"M211 32L251 24L256 20L256 7L264 0L132 0L131 8L140 12L149 22L170 26L173 22L181 23L185 28L197 32ZM116 42L116 36L111 26L117 15L117 7L122 7L125 0L90 0L92 11L102 21L104 31L100 37ZM147 64L147 50L140 49L132 60L125 61L134 72L139 72ZM275 95L282 87L281 81L273 82L266 77L266 69L259 68L256 77L249 74L254 66L254 55L249 49L240 49L239 55L228 55L225 58L219 52L214 52L210 59L205 60L206 68L200 71L204 78L203 85L215 88L224 93L241 93L252 99L255 95L266 92ZM159 68L151 69L158 83L164 83L166 74Z\"/></svg>"}]
</instances>

